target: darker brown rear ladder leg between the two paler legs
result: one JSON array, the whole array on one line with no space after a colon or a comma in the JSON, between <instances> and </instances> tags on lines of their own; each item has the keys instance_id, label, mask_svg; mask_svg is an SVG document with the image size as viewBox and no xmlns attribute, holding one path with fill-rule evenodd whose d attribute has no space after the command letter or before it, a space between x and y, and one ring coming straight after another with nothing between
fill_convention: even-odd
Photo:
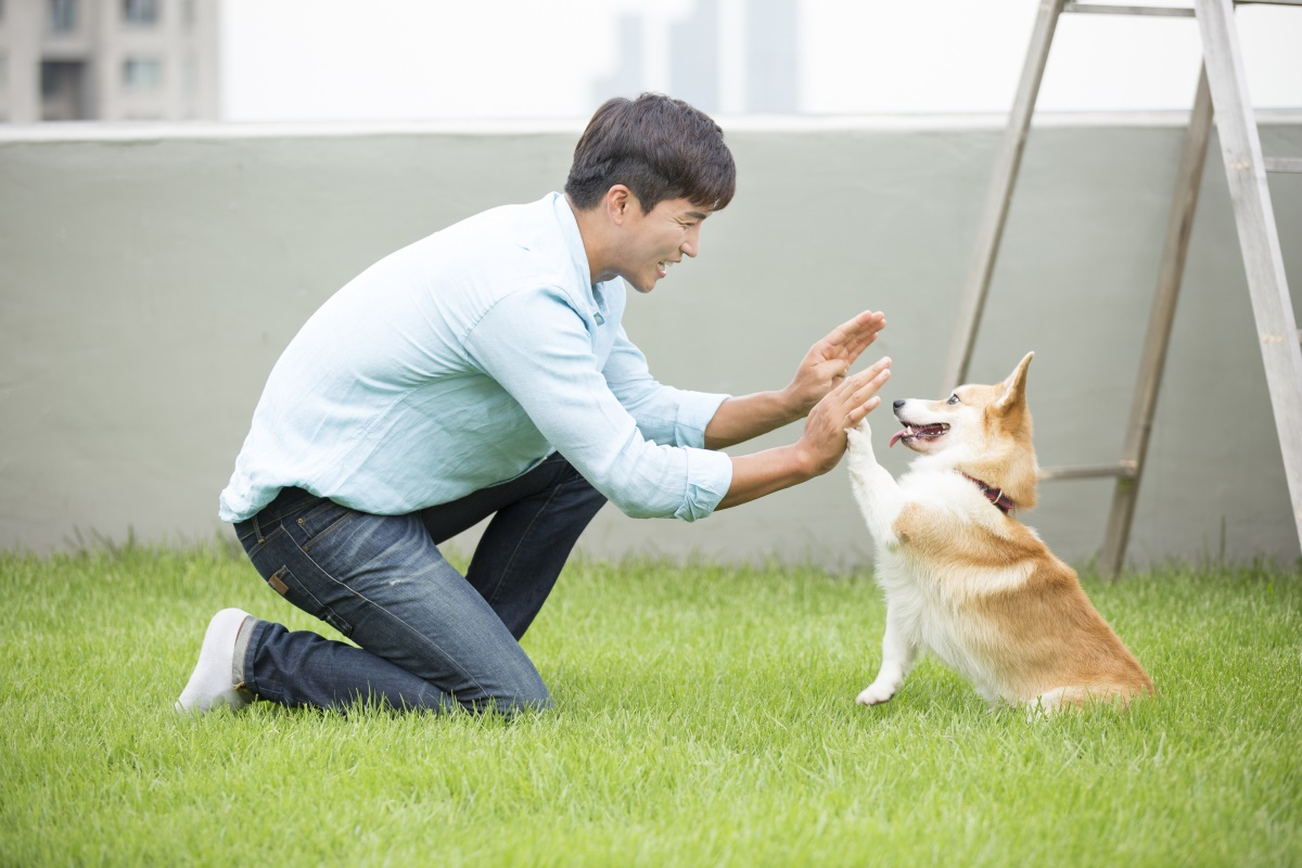
<instances>
[{"instance_id":1,"label":"darker brown rear ladder leg between the two paler legs","mask_svg":"<svg viewBox=\"0 0 1302 868\"><path fill-rule=\"evenodd\" d=\"M1194 111L1189 116L1185 146L1180 155L1180 169L1176 172L1176 195L1170 203L1170 219L1167 221L1167 239L1163 245L1161 265L1157 271L1157 292L1154 294L1152 310L1148 314L1148 332L1144 336L1143 355L1139 362L1139 381L1135 387L1134 402L1130 406L1130 423L1126 427L1121 463L1130 468L1133 475L1117 479L1117 487L1112 493L1112 510L1108 513L1108 530L1103 537L1099 569L1107 576L1115 576L1121 571L1126 544L1130 541L1130 524L1134 519L1135 498L1139 496L1139 480L1148 452L1148 435L1152 432L1157 390L1161 388L1161 375L1167 364L1170 327L1176 318L1176 301L1180 297L1180 282L1185 273L1189 236L1194 226L1194 211L1198 207L1198 191L1202 186L1203 165L1207 161L1207 142L1211 138L1211 129L1212 99L1207 87L1207 68L1204 66L1198 74Z\"/></svg>"}]
</instances>

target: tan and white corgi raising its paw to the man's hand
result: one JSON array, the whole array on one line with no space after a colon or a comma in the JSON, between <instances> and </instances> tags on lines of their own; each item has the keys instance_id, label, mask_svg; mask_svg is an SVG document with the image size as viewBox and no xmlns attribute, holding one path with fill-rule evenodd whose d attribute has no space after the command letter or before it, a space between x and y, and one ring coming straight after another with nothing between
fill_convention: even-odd
<instances>
[{"instance_id":1,"label":"tan and white corgi raising its paw to the man's hand","mask_svg":"<svg viewBox=\"0 0 1302 868\"><path fill-rule=\"evenodd\" d=\"M898 483L874 455L867 419L846 431L850 484L887 597L881 669L859 704L894 696L927 651L987 701L1031 711L1125 707L1154 692L1075 571L1016 518L1035 505L1039 476L1026 406L1034 355L996 385L896 401L904 429L889 446L919 453Z\"/></svg>"}]
</instances>

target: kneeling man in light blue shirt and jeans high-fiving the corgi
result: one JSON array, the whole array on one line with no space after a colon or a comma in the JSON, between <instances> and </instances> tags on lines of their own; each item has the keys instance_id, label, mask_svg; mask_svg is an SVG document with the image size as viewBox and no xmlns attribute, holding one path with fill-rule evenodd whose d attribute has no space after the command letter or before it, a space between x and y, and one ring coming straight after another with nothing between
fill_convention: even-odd
<instances>
[{"instance_id":1,"label":"kneeling man in light blue shirt and jeans high-fiving the corgi","mask_svg":"<svg viewBox=\"0 0 1302 868\"><path fill-rule=\"evenodd\" d=\"M703 113L612 99L565 195L449 226L327 301L272 370L220 514L275 591L359 647L225 609L177 709L547 707L518 640L608 498L695 521L836 466L889 375L849 376L881 314L745 397L660 385L620 324L625 282L650 293L695 256L734 183ZM806 415L789 446L717 452ZM437 545L488 515L462 576Z\"/></svg>"}]
</instances>

